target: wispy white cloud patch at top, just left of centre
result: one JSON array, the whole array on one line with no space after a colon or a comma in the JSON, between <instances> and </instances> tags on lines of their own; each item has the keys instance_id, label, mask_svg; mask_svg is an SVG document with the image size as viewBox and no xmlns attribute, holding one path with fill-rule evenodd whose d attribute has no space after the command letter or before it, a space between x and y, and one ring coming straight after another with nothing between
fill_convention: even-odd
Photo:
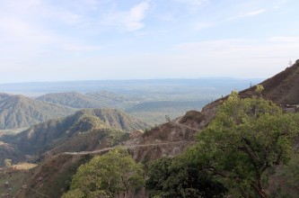
<instances>
[{"instance_id":1,"label":"wispy white cloud patch at top, just left of centre","mask_svg":"<svg viewBox=\"0 0 299 198\"><path fill-rule=\"evenodd\" d=\"M137 31L145 27L143 20L149 9L149 1L131 7L128 12L114 11L106 16L104 24L115 26L120 31Z\"/></svg>"}]
</instances>

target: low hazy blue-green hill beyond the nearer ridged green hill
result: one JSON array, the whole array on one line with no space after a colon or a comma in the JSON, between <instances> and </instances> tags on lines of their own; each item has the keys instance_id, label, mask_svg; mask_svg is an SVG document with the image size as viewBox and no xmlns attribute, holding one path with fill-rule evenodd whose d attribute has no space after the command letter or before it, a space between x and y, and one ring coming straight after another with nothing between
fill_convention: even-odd
<instances>
[{"instance_id":1,"label":"low hazy blue-green hill beyond the nearer ridged green hill","mask_svg":"<svg viewBox=\"0 0 299 198\"><path fill-rule=\"evenodd\" d=\"M118 107L129 103L129 100L119 94L107 91L80 94L77 92L66 92L56 94L45 94L36 100L59 103L74 108L103 108Z\"/></svg>"}]
</instances>

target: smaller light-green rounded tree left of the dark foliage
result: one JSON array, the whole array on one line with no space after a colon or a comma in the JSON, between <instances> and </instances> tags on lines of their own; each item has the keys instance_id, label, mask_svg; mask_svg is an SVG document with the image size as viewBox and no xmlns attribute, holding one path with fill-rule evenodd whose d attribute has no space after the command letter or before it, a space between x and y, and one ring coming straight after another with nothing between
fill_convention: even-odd
<instances>
[{"instance_id":1,"label":"smaller light-green rounded tree left of the dark foliage","mask_svg":"<svg viewBox=\"0 0 299 198\"><path fill-rule=\"evenodd\" d=\"M69 192L82 193L82 197L115 197L122 193L123 197L134 194L142 187L143 165L136 163L123 148L115 148L102 156L80 166L74 175Z\"/></svg>"}]
</instances>

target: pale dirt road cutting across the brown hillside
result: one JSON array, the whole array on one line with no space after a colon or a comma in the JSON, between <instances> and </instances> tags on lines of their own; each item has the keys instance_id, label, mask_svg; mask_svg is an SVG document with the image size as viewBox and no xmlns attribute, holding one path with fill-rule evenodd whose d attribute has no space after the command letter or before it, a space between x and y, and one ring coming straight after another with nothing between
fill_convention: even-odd
<instances>
[{"instance_id":1,"label":"pale dirt road cutting across the brown hillside","mask_svg":"<svg viewBox=\"0 0 299 198\"><path fill-rule=\"evenodd\" d=\"M138 144L138 145L132 145L132 146L124 146L125 148L145 148L145 147L150 147L150 146L159 146L159 145L171 145L171 144L179 144L179 143L194 143L195 141L188 141L188 140L181 140L181 141L172 141L172 142L161 142L161 143L154 143L154 144ZM109 151L112 150L116 147L111 147L111 148L102 148L99 150L92 150L92 151L81 151L81 152L64 152L62 154L65 155L88 155L88 154L96 154L96 153L101 153L104 151Z\"/></svg>"}]
</instances>

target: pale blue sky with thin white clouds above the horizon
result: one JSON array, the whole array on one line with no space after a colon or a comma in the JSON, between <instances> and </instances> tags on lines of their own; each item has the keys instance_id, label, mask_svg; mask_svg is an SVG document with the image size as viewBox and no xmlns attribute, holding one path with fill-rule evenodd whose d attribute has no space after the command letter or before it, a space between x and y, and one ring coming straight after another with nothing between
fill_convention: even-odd
<instances>
[{"instance_id":1,"label":"pale blue sky with thin white clouds above the horizon","mask_svg":"<svg viewBox=\"0 0 299 198\"><path fill-rule=\"evenodd\" d=\"M0 0L0 83L268 78L299 59L297 0Z\"/></svg>"}]
</instances>

